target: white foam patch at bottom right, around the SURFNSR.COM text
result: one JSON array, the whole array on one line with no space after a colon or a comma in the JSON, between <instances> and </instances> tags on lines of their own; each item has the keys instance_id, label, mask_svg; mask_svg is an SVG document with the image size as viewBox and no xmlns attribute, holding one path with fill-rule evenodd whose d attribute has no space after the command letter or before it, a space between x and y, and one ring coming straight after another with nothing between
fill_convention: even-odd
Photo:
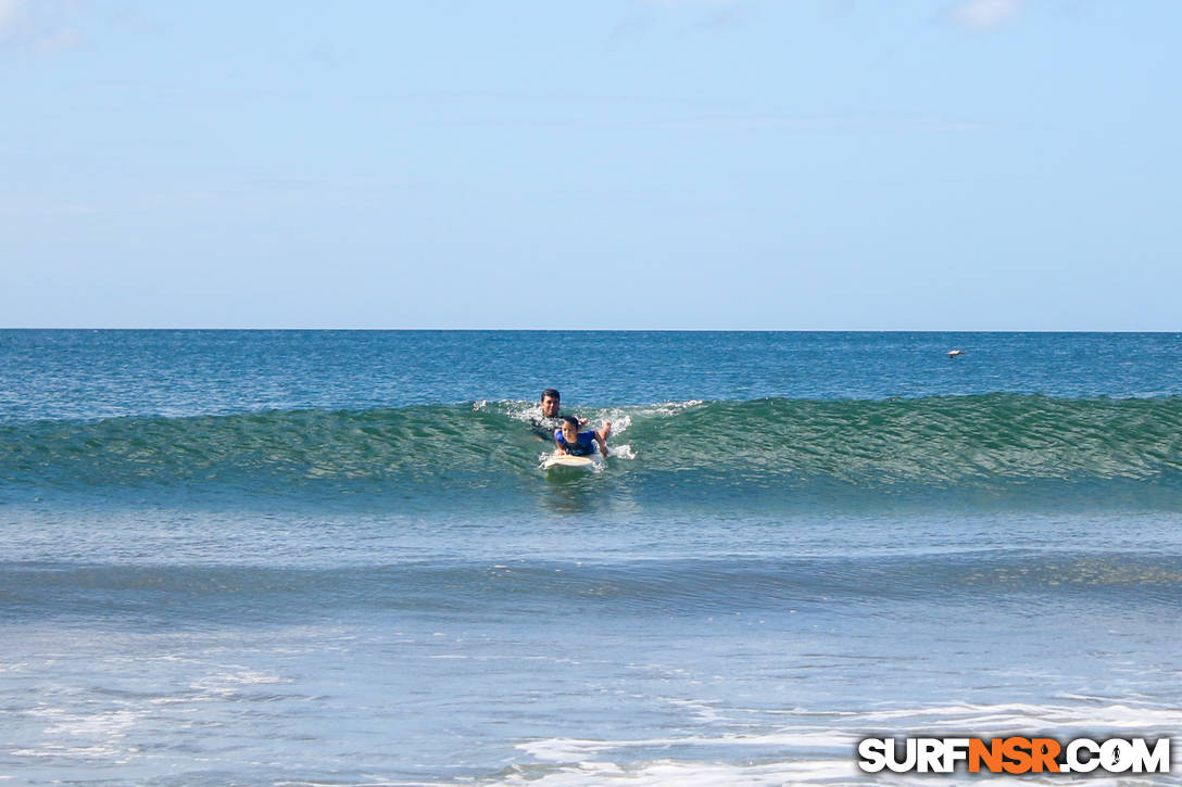
<instances>
[{"instance_id":1,"label":"white foam patch at bottom right, around the SURFNSR.COM text","mask_svg":"<svg viewBox=\"0 0 1182 787\"><path fill-rule=\"evenodd\" d=\"M695 711L702 721L741 714L742 709L720 709L713 703L678 700L675 704ZM752 710L752 713L759 713ZM968 735L991 737L1001 734L1038 733L1063 737L1067 734L1096 734L1110 737L1144 735L1156 737L1182 727L1182 709L1137 707L1110 702L1093 702L1078 707L1033 703L949 704L881 710L840 710L808 713L791 711L799 716L799 726L755 734L703 734L677 737L635 740L584 740L556 737L526 741L517 748L546 766L517 766L514 773L496 785L540 785L543 787L583 787L613 781L630 786L688 785L715 787L721 785L833 785L855 783L866 779L857 769L855 748L871 731L900 737L905 735ZM732 762L710 762L691 759L691 749L715 752L733 749ZM683 749L684 759L670 759L671 750ZM747 749L747 752L743 752ZM771 750L774 761L767 754ZM1175 746L1175 756L1176 760ZM658 753L661 760L645 759ZM715 757L719 759L719 757ZM541 775L539 775L539 769ZM1177 774L1175 768L1173 774ZM1173 776L1169 783L1180 783ZM1155 779L1129 781L1128 774L1108 778L1103 774L1084 779L1064 779L1061 775L1039 779L1024 776L993 776L991 783L1054 783L1054 785L1129 785L1163 783L1163 775ZM892 785L926 785L929 778L918 774L878 774L876 782Z\"/></svg>"}]
</instances>

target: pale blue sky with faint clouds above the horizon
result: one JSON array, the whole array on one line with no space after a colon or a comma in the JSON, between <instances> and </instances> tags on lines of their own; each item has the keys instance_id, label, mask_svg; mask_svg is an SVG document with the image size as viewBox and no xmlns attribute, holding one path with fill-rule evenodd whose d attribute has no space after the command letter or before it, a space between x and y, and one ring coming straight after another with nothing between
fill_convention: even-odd
<instances>
[{"instance_id":1,"label":"pale blue sky with faint clouds above the horizon","mask_svg":"<svg viewBox=\"0 0 1182 787\"><path fill-rule=\"evenodd\" d=\"M0 0L0 327L1180 331L1180 30Z\"/></svg>"}]
</instances>

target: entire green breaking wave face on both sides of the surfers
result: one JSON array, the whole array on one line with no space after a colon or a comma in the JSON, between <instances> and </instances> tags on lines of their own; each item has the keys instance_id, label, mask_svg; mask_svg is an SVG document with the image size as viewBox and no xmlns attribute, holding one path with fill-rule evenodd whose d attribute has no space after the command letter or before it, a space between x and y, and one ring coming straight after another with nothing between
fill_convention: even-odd
<instances>
[{"instance_id":1,"label":"entire green breaking wave face on both sides of the surfers","mask_svg":"<svg viewBox=\"0 0 1182 787\"><path fill-rule=\"evenodd\" d=\"M506 493L545 483L551 442L521 402L52 421L0 428L0 480L38 489ZM1030 484L1182 489L1182 399L994 394L886 401L758 399L604 408L617 457L597 483L629 493ZM1130 486L1131 484L1131 486ZM817 490L826 492L817 492ZM1162 495L1165 497L1162 497Z\"/></svg>"}]
</instances>

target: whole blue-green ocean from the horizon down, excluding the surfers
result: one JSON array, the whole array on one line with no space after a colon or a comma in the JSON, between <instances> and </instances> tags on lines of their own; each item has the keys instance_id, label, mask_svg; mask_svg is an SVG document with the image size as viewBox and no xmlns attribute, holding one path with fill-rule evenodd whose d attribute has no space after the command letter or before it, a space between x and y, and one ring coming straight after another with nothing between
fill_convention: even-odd
<instances>
[{"instance_id":1,"label":"whole blue-green ocean from the horizon down, excluding the surfers","mask_svg":"<svg viewBox=\"0 0 1182 787\"><path fill-rule=\"evenodd\" d=\"M600 471L540 468L544 388ZM0 783L1177 737L1180 523L1182 334L0 331Z\"/></svg>"}]
</instances>

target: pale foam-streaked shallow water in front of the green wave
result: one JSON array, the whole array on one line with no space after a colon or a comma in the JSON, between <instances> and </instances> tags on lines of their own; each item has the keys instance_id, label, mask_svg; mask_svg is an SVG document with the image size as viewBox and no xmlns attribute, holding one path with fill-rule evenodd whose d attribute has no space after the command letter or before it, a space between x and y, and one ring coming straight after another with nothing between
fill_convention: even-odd
<instances>
[{"instance_id":1,"label":"pale foam-streaked shallow water in front of the green wave","mask_svg":"<svg viewBox=\"0 0 1182 787\"><path fill-rule=\"evenodd\" d=\"M1161 526L1156 516L1109 533L1091 522L1095 541L1072 549L916 538L863 555L821 549L806 527L799 542L812 554L791 554L793 522L755 554L704 520L643 558L610 535L618 522L580 522L608 531L582 541L578 528L551 531L530 554L507 523L437 522L429 538L374 518L306 536L290 522L279 539L288 565L253 558L261 522L243 521L235 541L225 512L186 521L186 538L157 520L170 533L154 544L149 519L109 525L149 552L171 544L167 562L96 544L102 562L50 562L43 551L2 564L0 773L28 783L831 785L862 779L853 750L871 734L1156 737L1182 722L1182 565L1104 547ZM1054 522L1083 525L1026 525ZM842 527L873 544L881 525ZM210 539L238 559L195 559ZM333 551L342 540L370 552L353 560L352 548Z\"/></svg>"}]
</instances>

